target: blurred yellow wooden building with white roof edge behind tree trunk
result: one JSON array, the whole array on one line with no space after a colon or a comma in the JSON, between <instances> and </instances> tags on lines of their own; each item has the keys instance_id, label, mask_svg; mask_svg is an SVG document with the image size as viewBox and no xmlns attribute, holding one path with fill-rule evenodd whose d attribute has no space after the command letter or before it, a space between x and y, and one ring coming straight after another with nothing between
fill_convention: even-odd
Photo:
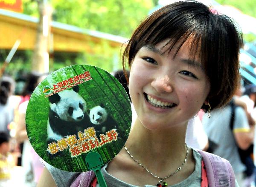
<instances>
[{"instance_id":1,"label":"blurred yellow wooden building with white roof edge behind tree trunk","mask_svg":"<svg viewBox=\"0 0 256 187\"><path fill-rule=\"evenodd\" d=\"M20 50L33 50L38 18L0 9L0 49L11 49L17 39L20 39ZM102 33L81 29L59 22L52 21L51 32L53 35L53 50L67 52L93 52L89 45L101 45L107 42L112 48L120 46L128 39Z\"/></svg>"}]
</instances>

